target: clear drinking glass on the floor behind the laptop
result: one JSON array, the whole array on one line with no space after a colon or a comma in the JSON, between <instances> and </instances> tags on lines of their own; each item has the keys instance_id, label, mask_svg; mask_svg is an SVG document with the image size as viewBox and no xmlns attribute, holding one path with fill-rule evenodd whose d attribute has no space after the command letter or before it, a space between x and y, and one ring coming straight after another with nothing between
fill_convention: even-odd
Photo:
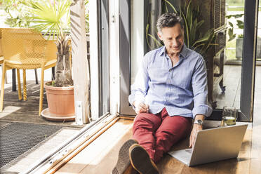
<instances>
[{"instance_id":1,"label":"clear drinking glass on the floor behind the laptop","mask_svg":"<svg viewBox=\"0 0 261 174\"><path fill-rule=\"evenodd\" d=\"M223 107L221 126L231 126L236 124L237 109L236 107Z\"/></svg>"}]
</instances>

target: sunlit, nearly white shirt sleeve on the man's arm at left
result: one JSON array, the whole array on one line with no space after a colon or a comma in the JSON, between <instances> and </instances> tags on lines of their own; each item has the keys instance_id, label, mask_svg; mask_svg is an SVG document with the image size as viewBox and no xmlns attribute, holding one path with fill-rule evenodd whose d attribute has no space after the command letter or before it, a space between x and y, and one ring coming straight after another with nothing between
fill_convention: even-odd
<instances>
[{"instance_id":1,"label":"sunlit, nearly white shirt sleeve on the man's arm at left","mask_svg":"<svg viewBox=\"0 0 261 174\"><path fill-rule=\"evenodd\" d=\"M144 102L147 90L149 88L149 74L147 68L148 54L142 58L142 65L140 66L135 82L131 86L131 95L128 96L128 102L133 106L134 101Z\"/></svg>"}]
</instances>

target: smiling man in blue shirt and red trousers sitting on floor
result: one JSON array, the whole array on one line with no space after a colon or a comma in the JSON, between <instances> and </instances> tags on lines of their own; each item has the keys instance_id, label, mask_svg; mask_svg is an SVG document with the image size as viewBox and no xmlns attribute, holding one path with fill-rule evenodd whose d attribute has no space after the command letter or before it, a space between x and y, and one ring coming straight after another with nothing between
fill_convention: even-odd
<instances>
[{"instance_id":1,"label":"smiling man in blue shirt and red trousers sitting on floor","mask_svg":"<svg viewBox=\"0 0 261 174\"><path fill-rule=\"evenodd\" d=\"M133 140L121 147L112 173L124 173L130 164L142 174L159 173L155 163L190 132L189 147L193 147L203 119L212 112L207 100L206 63L185 46L182 18L165 13L156 27L164 46L142 59L129 96L137 113Z\"/></svg>"}]
</instances>

